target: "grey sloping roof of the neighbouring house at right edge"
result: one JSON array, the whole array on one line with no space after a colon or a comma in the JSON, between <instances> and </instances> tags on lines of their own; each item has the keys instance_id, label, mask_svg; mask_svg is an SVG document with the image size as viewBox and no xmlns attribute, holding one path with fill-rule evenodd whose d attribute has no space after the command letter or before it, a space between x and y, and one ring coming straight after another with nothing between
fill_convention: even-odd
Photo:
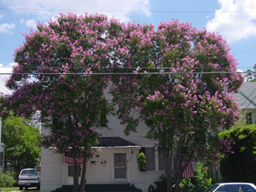
<instances>
[{"instance_id":1,"label":"grey sloping roof of the neighbouring house at right edge","mask_svg":"<svg viewBox=\"0 0 256 192\"><path fill-rule=\"evenodd\" d=\"M256 108L256 82L244 82L233 95L240 108Z\"/></svg>"}]
</instances>

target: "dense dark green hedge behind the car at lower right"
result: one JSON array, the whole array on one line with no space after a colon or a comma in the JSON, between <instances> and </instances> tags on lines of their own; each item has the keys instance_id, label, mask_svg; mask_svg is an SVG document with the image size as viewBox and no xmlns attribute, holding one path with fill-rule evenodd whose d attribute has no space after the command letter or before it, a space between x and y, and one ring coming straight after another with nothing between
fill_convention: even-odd
<instances>
[{"instance_id":1,"label":"dense dark green hedge behind the car at lower right","mask_svg":"<svg viewBox=\"0 0 256 192\"><path fill-rule=\"evenodd\" d=\"M232 153L220 160L220 172L224 182L256 183L256 125L247 125L220 135L232 140Z\"/></svg>"}]
</instances>

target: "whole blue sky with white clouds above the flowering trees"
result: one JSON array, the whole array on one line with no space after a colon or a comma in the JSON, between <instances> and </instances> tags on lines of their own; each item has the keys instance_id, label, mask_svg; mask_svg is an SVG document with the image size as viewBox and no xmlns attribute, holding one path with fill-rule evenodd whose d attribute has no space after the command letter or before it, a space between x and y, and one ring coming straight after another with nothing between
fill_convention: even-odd
<instances>
[{"instance_id":1,"label":"whole blue sky with white clouds above the flowering trees","mask_svg":"<svg viewBox=\"0 0 256 192\"><path fill-rule=\"evenodd\" d=\"M0 0L0 73L11 72L14 50L24 41L22 32L67 12L101 13L154 26L172 18L189 22L222 34L242 71L256 63L256 0ZM6 77L0 74L0 92L7 92Z\"/></svg>"}]
</instances>

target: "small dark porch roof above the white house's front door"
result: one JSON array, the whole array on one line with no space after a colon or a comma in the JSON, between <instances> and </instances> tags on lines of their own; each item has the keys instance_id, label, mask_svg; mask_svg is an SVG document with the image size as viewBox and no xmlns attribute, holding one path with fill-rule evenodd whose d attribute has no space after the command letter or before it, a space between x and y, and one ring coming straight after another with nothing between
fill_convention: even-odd
<instances>
[{"instance_id":1,"label":"small dark porch roof above the white house's front door","mask_svg":"<svg viewBox=\"0 0 256 192\"><path fill-rule=\"evenodd\" d=\"M99 148L137 148L140 147L135 143L126 141L121 137L100 137Z\"/></svg>"}]
</instances>

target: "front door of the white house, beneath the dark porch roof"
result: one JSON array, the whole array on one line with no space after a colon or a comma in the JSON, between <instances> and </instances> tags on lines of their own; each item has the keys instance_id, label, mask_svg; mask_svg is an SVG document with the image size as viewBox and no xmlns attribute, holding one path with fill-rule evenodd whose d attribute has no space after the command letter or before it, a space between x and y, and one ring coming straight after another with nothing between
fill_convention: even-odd
<instances>
[{"instance_id":1,"label":"front door of the white house, beneath the dark porch roof","mask_svg":"<svg viewBox=\"0 0 256 192\"><path fill-rule=\"evenodd\" d=\"M113 154L113 169L114 169L114 183L126 183L126 154L125 153L115 153Z\"/></svg>"}]
</instances>

